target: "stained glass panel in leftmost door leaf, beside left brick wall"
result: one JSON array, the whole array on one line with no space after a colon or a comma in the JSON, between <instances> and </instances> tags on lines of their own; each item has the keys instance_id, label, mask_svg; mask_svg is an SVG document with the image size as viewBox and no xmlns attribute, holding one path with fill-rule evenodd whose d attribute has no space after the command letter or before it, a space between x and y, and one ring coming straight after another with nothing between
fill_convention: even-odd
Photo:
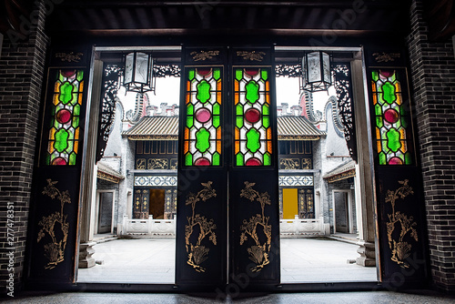
<instances>
[{"instance_id":1,"label":"stained glass panel in leftmost door leaf, beside left brick wall","mask_svg":"<svg viewBox=\"0 0 455 304\"><path fill-rule=\"evenodd\" d=\"M52 96L52 118L49 125L46 165L76 165L83 78L82 70L58 71Z\"/></svg>"}]
</instances>

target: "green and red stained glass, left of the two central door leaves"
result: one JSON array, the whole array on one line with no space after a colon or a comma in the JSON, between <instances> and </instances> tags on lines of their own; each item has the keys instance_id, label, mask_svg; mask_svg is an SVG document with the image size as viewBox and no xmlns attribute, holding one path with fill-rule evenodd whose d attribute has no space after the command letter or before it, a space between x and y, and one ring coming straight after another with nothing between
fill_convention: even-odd
<instances>
[{"instance_id":1,"label":"green and red stained glass, left of the two central door leaves","mask_svg":"<svg viewBox=\"0 0 455 304\"><path fill-rule=\"evenodd\" d=\"M186 166L220 166L221 67L187 68Z\"/></svg>"}]
</instances>

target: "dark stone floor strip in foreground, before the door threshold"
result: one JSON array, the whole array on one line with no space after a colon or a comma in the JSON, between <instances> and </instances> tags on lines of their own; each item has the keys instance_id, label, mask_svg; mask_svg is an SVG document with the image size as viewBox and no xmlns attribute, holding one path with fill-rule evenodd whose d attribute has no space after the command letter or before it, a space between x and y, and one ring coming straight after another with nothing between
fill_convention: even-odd
<instances>
[{"instance_id":1,"label":"dark stone floor strip in foreground, before the door threshold","mask_svg":"<svg viewBox=\"0 0 455 304\"><path fill-rule=\"evenodd\" d=\"M128 304L128 303L160 303L160 304L211 304L211 303L248 303L248 304L439 304L454 303L455 298L442 296L432 291L399 293L393 291L361 291L361 292L314 292L314 293L277 293L248 294L237 298L217 299L216 295L183 295L183 294L149 294L149 293L100 293L100 292L69 292L59 294L36 295L29 293L14 299L3 299L2 303L31 304Z\"/></svg>"}]
</instances>

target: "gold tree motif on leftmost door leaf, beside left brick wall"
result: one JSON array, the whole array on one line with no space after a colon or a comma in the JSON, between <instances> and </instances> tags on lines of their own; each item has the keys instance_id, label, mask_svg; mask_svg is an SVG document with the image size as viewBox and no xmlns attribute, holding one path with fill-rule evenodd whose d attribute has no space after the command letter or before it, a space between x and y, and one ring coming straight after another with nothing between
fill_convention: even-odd
<instances>
[{"instance_id":1,"label":"gold tree motif on leftmost door leaf, beside left brick wall","mask_svg":"<svg viewBox=\"0 0 455 304\"><path fill-rule=\"evenodd\" d=\"M37 242L45 238L46 234L52 239L50 243L44 246L45 258L49 260L45 269L54 269L58 263L65 260L66 240L68 238L69 224L66 222L67 215L63 213L63 208L66 203L71 204L71 198L68 190L61 192L56 188L56 183L58 181L52 181L52 179L48 178L43 195L52 199L57 198L60 201L60 212L43 217L38 223L43 228L38 232Z\"/></svg>"}]
</instances>

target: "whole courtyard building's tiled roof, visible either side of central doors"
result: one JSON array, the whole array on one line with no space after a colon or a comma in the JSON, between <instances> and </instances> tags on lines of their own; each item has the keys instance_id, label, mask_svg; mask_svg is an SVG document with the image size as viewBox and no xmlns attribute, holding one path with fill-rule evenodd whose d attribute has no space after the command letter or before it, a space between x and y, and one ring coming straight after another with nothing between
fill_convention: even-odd
<instances>
[{"instance_id":1,"label":"whole courtyard building's tiled roof, visible either side of central doors","mask_svg":"<svg viewBox=\"0 0 455 304\"><path fill-rule=\"evenodd\" d=\"M136 126L123 132L132 140L176 140L178 117L142 117ZM318 140L326 133L314 127L306 117L278 117L278 139Z\"/></svg>"}]
</instances>

